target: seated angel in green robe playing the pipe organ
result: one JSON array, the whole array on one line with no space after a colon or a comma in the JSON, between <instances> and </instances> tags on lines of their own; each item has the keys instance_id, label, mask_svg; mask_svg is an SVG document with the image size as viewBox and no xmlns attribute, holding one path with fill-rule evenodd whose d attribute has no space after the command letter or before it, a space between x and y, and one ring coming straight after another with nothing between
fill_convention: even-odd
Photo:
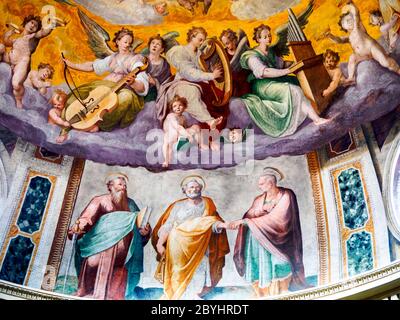
<instances>
[{"instance_id":1,"label":"seated angel in green robe playing the pipe organ","mask_svg":"<svg viewBox=\"0 0 400 320\"><path fill-rule=\"evenodd\" d=\"M312 7L313 1L298 18L303 27ZM272 137L294 134L306 118L318 126L330 121L319 117L301 90L297 78L289 75L292 63L282 59L289 53L286 45L287 28L284 26L279 30L279 41L271 46L271 28L261 24L254 29L253 39L258 45L244 52L240 58L242 68L252 72L249 77L252 93L241 99L257 126Z\"/></svg>"}]
</instances>

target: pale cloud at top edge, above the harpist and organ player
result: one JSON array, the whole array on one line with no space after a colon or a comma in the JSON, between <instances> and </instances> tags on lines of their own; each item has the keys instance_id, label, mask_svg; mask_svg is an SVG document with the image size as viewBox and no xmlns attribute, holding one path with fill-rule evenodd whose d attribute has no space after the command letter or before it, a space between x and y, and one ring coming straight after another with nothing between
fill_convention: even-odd
<instances>
[{"instance_id":1,"label":"pale cloud at top edge, above the harpist and organ player","mask_svg":"<svg viewBox=\"0 0 400 320\"><path fill-rule=\"evenodd\" d=\"M232 3L231 13L240 20L266 19L300 0L237 0Z\"/></svg>"}]
</instances>

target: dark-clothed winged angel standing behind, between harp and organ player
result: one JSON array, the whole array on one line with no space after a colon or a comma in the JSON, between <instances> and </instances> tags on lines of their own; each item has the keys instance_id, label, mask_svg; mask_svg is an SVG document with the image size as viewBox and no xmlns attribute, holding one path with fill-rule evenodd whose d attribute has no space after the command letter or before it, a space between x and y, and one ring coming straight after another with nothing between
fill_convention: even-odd
<instances>
[{"instance_id":1,"label":"dark-clothed winged angel standing behind, between harp and organ player","mask_svg":"<svg viewBox=\"0 0 400 320\"><path fill-rule=\"evenodd\" d=\"M249 39L242 29L238 32L226 29L222 31L219 39L225 47L232 70L232 97L241 97L250 92L250 84L247 82L250 72L240 65L242 53L250 49Z\"/></svg>"}]
</instances>

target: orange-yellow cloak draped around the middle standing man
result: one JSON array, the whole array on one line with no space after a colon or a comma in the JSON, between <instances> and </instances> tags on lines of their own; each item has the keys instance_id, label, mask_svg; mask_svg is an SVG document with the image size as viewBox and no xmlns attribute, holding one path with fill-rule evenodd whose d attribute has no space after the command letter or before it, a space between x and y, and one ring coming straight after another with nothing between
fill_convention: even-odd
<instances>
[{"instance_id":1,"label":"orange-yellow cloak draped around the middle standing man","mask_svg":"<svg viewBox=\"0 0 400 320\"><path fill-rule=\"evenodd\" d=\"M225 266L225 255L229 253L226 231L219 234L212 232L212 225L223 221L217 213L214 202L207 197L202 217L185 221L172 229L168 236L165 251L164 293L167 299L179 299L189 285L197 267L209 249L211 286L215 287L222 278ZM167 221L172 208L178 200L171 204L159 219L154 228L152 244L156 248L158 230ZM157 257L160 260L160 257Z\"/></svg>"}]
</instances>

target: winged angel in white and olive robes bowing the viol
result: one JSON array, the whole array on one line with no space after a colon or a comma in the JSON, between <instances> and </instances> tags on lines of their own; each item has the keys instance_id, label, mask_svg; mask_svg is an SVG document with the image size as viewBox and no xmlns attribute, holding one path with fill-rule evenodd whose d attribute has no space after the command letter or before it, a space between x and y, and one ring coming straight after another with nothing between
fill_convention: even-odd
<instances>
[{"instance_id":1,"label":"winged angel in white and olive robes bowing the viol","mask_svg":"<svg viewBox=\"0 0 400 320\"><path fill-rule=\"evenodd\" d=\"M66 102L64 116L68 113L69 106L79 99L82 104L86 104L85 99L90 92L98 87L107 87L115 90L115 86L124 81L120 89L115 90L118 101L116 107L111 112L102 115L101 121L85 129L85 131L111 131L114 128L125 128L135 119L137 113L143 109L143 98L149 91L149 79L145 71L138 72L135 76L130 74L139 68L144 67L145 58L143 55L136 54L134 50L143 42L135 40L133 32L122 28L115 33L113 43L116 51L108 45L110 36L101 26L90 19L82 11L78 11L82 26L88 35L88 44L93 50L97 60L84 63L75 63L63 58L67 67L83 72L95 72L97 75L108 73L99 81L84 84L73 90ZM68 119L66 119L68 120ZM57 142L63 142L67 138L67 131L63 130Z\"/></svg>"}]
</instances>

